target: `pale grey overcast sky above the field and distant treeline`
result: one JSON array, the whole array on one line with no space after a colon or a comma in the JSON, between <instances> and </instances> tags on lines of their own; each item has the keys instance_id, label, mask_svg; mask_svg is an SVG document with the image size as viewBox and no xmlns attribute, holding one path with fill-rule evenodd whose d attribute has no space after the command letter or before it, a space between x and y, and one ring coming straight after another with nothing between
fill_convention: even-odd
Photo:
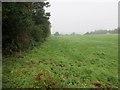
<instances>
[{"instance_id":1,"label":"pale grey overcast sky above the field and distant treeline","mask_svg":"<svg viewBox=\"0 0 120 90\"><path fill-rule=\"evenodd\" d=\"M118 27L118 0L49 0L51 33L84 34Z\"/></svg>"}]
</instances>

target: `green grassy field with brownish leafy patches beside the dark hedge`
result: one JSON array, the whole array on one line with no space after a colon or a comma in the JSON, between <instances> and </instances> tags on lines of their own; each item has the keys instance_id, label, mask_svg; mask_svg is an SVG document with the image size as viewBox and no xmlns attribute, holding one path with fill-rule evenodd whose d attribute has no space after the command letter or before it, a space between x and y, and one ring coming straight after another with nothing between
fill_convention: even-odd
<instances>
[{"instance_id":1,"label":"green grassy field with brownish leafy patches beside the dark hedge","mask_svg":"<svg viewBox=\"0 0 120 90\"><path fill-rule=\"evenodd\" d=\"M41 46L3 58L3 88L116 88L117 35L51 36Z\"/></svg>"}]
</instances>

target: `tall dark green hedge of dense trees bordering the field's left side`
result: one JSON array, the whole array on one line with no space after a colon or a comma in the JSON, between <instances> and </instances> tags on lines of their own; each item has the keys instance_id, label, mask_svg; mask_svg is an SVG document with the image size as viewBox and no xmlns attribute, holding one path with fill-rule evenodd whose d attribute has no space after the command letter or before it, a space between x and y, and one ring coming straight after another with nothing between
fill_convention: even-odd
<instances>
[{"instance_id":1,"label":"tall dark green hedge of dense trees bordering the field's left side","mask_svg":"<svg viewBox=\"0 0 120 90\"><path fill-rule=\"evenodd\" d=\"M3 2L3 55L24 51L42 43L50 35L48 2Z\"/></svg>"}]
</instances>

